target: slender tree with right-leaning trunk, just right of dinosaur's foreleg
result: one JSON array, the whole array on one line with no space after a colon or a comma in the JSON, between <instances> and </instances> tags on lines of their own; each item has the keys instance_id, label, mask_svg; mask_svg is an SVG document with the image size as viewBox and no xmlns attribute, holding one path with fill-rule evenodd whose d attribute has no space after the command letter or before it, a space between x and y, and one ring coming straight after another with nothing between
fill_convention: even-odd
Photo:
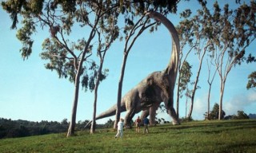
<instances>
[{"instance_id":1,"label":"slender tree with right-leaning trunk, just right of dinosaur's foreleg","mask_svg":"<svg viewBox=\"0 0 256 153\"><path fill-rule=\"evenodd\" d=\"M211 46L213 44L210 37L212 37L212 33L210 33L211 22L207 21L206 18L209 16L209 10L206 8L206 2L201 2L202 10L198 10L198 14L194 15L193 18L190 18L192 14L191 10L185 10L181 15L182 18L185 18L179 24L178 33L180 33L181 42L183 45L189 45L190 50L194 50L194 54L198 56L198 70L196 73L195 80L192 82L194 85L191 90L191 105L190 111L188 113L188 118L191 118L193 108L194 108L194 96L196 90L200 88L198 86L198 81L202 69L202 62L206 55L206 52L210 52L212 50ZM190 53L190 51L188 52ZM187 55L188 55L187 53Z\"/></svg>"}]
</instances>

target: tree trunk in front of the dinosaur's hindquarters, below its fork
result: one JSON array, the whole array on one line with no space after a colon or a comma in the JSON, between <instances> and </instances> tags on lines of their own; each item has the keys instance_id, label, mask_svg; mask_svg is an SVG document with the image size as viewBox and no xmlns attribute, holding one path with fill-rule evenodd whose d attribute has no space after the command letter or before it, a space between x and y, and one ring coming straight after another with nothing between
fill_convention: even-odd
<instances>
[{"instance_id":1,"label":"tree trunk in front of the dinosaur's hindquarters, below its fork","mask_svg":"<svg viewBox=\"0 0 256 153\"><path fill-rule=\"evenodd\" d=\"M121 113L120 110L121 110L121 100L122 100L122 80L125 74L127 57L128 57L128 53L124 52L121 75L118 82L118 101L117 101L117 111L116 111L115 121L114 121L114 129L118 128L118 121L120 120L120 113Z\"/></svg>"}]
</instances>

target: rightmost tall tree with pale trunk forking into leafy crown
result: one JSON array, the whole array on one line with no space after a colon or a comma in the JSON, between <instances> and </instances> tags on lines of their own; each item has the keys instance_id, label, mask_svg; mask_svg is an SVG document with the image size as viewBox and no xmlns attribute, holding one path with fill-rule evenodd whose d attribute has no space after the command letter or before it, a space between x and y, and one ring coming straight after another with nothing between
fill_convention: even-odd
<instances>
[{"instance_id":1,"label":"rightmost tall tree with pale trunk forking into leafy crown","mask_svg":"<svg viewBox=\"0 0 256 153\"><path fill-rule=\"evenodd\" d=\"M214 31L218 33L214 36L214 45L219 50L215 52L215 66L221 81L219 120L222 119L222 99L228 74L234 66L246 61L246 48L256 36L255 6L256 3L251 1L250 6L243 4L233 11L226 4L221 14L218 2L214 4L213 19L218 23L214 26Z\"/></svg>"}]
</instances>

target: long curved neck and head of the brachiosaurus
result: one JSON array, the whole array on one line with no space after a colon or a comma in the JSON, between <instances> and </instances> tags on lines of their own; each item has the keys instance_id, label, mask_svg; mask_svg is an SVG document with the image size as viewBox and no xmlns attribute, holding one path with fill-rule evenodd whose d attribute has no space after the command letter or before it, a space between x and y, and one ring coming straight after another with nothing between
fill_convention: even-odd
<instances>
[{"instance_id":1,"label":"long curved neck and head of the brachiosaurus","mask_svg":"<svg viewBox=\"0 0 256 153\"><path fill-rule=\"evenodd\" d=\"M158 22L162 22L164 26L169 30L172 36L172 53L170 56L170 62L166 68L165 73L169 76L169 80L171 82L175 82L178 72L178 61L179 61L179 53L180 53L180 45L178 39L178 32L175 29L174 25L162 14L158 12L150 11L146 13L150 16L150 18L154 18Z\"/></svg>"}]
</instances>

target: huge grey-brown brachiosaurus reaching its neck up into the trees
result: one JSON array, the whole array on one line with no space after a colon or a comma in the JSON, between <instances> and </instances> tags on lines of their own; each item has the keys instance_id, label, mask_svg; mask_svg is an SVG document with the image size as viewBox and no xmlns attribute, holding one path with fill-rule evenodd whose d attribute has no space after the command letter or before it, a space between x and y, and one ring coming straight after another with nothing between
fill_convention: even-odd
<instances>
[{"instance_id":1,"label":"huge grey-brown brachiosaurus reaching its neck up into the trees","mask_svg":"<svg viewBox=\"0 0 256 153\"><path fill-rule=\"evenodd\" d=\"M173 124L179 124L178 117L173 106L174 86L178 72L178 60L180 53L178 32L174 25L162 14L154 11L147 11L146 15L150 18L154 18L158 22L162 22L162 24L169 30L172 36L172 53L170 63L166 69L151 73L122 97L121 112L127 111L124 123L127 128L130 127L130 121L134 115L142 110L142 116L148 116L149 114L150 123L153 123L156 109L162 102L165 104L167 113L172 117ZM116 105L106 112L102 112L102 114L96 117L96 120L114 116L115 113Z\"/></svg>"}]
</instances>

